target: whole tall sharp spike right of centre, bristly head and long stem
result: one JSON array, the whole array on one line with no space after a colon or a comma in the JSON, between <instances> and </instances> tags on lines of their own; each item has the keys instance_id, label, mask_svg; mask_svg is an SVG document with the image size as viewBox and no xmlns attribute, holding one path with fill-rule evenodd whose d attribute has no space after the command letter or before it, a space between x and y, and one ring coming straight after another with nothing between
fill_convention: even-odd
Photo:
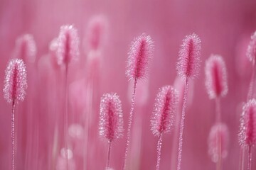
<instances>
[{"instance_id":1,"label":"whole tall sharp spike right of centre, bristly head and long stem","mask_svg":"<svg viewBox=\"0 0 256 170\"><path fill-rule=\"evenodd\" d=\"M186 98L188 94L188 79L194 79L198 76L200 68L200 55L201 55L201 40L193 33L192 35L187 35L183 40L181 45L181 50L179 52L179 58L177 63L177 72L180 77L185 79L185 92L183 96L183 106L181 113L181 128L178 144L178 166L177 169L181 169L181 152L182 152L182 138L183 138L183 128L185 120L186 111Z\"/></svg>"}]
</instances>

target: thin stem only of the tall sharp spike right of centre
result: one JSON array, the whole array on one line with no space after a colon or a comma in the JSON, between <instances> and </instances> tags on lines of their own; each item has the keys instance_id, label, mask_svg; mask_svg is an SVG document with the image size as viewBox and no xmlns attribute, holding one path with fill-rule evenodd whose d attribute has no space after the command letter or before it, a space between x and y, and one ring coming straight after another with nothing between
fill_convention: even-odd
<instances>
[{"instance_id":1,"label":"thin stem only of the tall sharp spike right of centre","mask_svg":"<svg viewBox=\"0 0 256 170\"><path fill-rule=\"evenodd\" d=\"M181 154L182 154L182 140L183 140L183 128L185 120L185 111L186 111L186 99L188 94L188 77L186 77L185 92L183 97L182 113L181 113L181 127L180 127L180 136L178 142L178 166L177 170L181 169Z\"/></svg>"}]
</instances>

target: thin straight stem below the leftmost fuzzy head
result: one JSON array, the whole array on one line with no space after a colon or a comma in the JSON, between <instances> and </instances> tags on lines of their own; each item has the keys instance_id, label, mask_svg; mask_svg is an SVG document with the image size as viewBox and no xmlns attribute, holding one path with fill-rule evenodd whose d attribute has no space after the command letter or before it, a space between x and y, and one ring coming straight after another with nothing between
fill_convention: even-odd
<instances>
[{"instance_id":1,"label":"thin straight stem below the leftmost fuzzy head","mask_svg":"<svg viewBox=\"0 0 256 170\"><path fill-rule=\"evenodd\" d=\"M15 100L12 102L11 113L11 169L15 170Z\"/></svg>"}]
</instances>

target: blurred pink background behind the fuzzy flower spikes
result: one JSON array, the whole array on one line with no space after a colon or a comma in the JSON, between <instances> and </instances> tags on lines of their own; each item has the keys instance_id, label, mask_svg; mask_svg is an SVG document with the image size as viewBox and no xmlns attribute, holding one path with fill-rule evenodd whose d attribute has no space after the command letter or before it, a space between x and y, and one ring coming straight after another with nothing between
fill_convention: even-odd
<instances>
[{"instance_id":1,"label":"blurred pink background behind the fuzzy flower spikes","mask_svg":"<svg viewBox=\"0 0 256 170\"><path fill-rule=\"evenodd\" d=\"M102 24L98 45L91 37L97 36L98 30L90 28L95 17ZM220 101L222 122L229 130L223 169L238 169L239 119L252 74L252 63L245 54L256 30L255 0L1 0L1 87L6 64L18 57L14 52L16 39L29 33L37 47L35 62L25 59L27 95L16 107L16 169L65 169L65 72L56 62L54 43L50 46L65 24L73 24L80 38L79 60L68 70L70 170L105 169L108 145L98 135L98 123L100 97L109 92L120 96L125 128L124 137L113 142L110 166L122 168L132 95L132 82L125 76L127 52L133 38L141 33L154 40L154 59L148 79L138 84L127 169L155 169L158 138L150 130L154 98L161 86L173 85L175 80L176 88L182 89L176 79L176 62L183 38L191 33L201 38L201 70L198 79L189 84L181 169L215 169L208 155L215 102L208 98L204 73L205 61L211 54L222 55L228 70L228 95ZM160 169L176 169L176 131L174 128L164 134ZM256 169L255 157L253 148L252 169ZM11 169L11 105L4 100L2 90L0 169Z\"/></svg>"}]
</instances>

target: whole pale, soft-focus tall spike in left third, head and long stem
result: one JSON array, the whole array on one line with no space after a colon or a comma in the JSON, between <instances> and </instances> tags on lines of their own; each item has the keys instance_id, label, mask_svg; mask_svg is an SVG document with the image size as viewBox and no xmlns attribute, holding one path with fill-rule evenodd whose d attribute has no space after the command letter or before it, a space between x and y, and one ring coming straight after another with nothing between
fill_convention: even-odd
<instances>
[{"instance_id":1,"label":"whole pale, soft-focus tall spike in left third, head and long stem","mask_svg":"<svg viewBox=\"0 0 256 170\"><path fill-rule=\"evenodd\" d=\"M79 38L78 31L73 26L61 26L58 35L57 49L58 64L65 67L64 83L64 138L65 154L68 169L68 65L79 57Z\"/></svg>"}]
</instances>

